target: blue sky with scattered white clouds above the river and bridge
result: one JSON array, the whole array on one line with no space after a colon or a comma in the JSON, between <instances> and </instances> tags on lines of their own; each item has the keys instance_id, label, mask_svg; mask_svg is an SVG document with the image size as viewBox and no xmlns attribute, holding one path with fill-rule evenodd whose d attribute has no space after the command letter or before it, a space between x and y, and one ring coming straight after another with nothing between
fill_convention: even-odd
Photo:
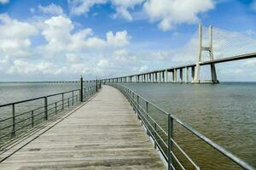
<instances>
[{"instance_id":1,"label":"blue sky with scattered white clouds above the river and bridge","mask_svg":"<svg viewBox=\"0 0 256 170\"><path fill-rule=\"evenodd\" d=\"M0 0L0 82L117 77L195 63L197 28L215 58L256 52L256 0ZM207 60L208 55L203 55ZM216 65L256 81L256 59ZM201 78L209 79L203 66Z\"/></svg>"}]
</instances>

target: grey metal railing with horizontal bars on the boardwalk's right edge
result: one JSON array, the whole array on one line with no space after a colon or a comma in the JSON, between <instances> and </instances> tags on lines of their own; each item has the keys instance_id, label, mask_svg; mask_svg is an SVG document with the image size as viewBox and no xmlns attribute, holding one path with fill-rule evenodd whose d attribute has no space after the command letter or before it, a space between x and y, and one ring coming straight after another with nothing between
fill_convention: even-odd
<instances>
[{"instance_id":1,"label":"grey metal railing with horizontal bars on the boardwalk's right edge","mask_svg":"<svg viewBox=\"0 0 256 170\"><path fill-rule=\"evenodd\" d=\"M160 151L161 156L164 157L164 162L166 162L166 168L170 169L201 169L195 161L187 154L183 147L178 144L178 142L173 138L174 122L179 126L183 127L188 133L195 135L201 142L211 146L213 150L217 150L225 158L233 161L236 167L242 169L255 170L254 167L247 164L247 162L242 161L239 157L230 153L230 151L225 150L222 146L216 144L211 139L208 139L203 134L196 131L194 128L190 127L188 124L180 121L176 116L160 109L159 106L154 105L149 102L147 99L144 99L142 96L136 94L129 88L125 88L116 83L109 83L109 85L114 88L119 89L119 91L125 95L125 98L131 103L135 113L137 113L138 119L141 120L143 127L146 128L148 135L151 139L154 140L154 148ZM152 111L157 111L158 116L152 116L149 114L149 107ZM162 120L159 121L158 117L162 116ZM167 120L165 122L165 120ZM164 123L160 123L164 122ZM163 125L164 124L164 125ZM176 154L176 152L179 154ZM180 159L179 157L183 157ZM189 162L189 167L186 168L183 164L184 159ZM230 167L228 167L230 169Z\"/></svg>"}]
</instances>

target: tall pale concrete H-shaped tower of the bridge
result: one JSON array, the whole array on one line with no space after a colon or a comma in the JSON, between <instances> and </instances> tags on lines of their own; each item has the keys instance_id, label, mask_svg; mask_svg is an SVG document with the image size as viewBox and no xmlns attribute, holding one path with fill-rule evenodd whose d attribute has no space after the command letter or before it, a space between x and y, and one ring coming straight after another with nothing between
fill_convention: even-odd
<instances>
[{"instance_id":1,"label":"tall pale concrete H-shaped tower of the bridge","mask_svg":"<svg viewBox=\"0 0 256 170\"><path fill-rule=\"evenodd\" d=\"M213 48L212 48L212 26L209 26L209 46L208 47L203 47L202 45L202 26L201 24L198 26L198 41L199 41L199 54L196 59L196 64L195 64L195 77L193 79L193 83L200 83L200 63L201 63L201 55L203 51L209 52L209 57L210 60L213 60ZM217 79L217 74L216 74L216 69L215 65L211 64L211 76L212 80L211 81L203 81L203 82L211 82L211 83L218 83Z\"/></svg>"}]
</instances>

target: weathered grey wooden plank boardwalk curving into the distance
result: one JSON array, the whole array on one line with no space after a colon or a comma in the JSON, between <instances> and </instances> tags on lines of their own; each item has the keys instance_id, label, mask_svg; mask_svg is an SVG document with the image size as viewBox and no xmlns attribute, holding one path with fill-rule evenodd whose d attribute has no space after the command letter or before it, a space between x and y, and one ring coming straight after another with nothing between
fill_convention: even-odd
<instances>
[{"instance_id":1,"label":"weathered grey wooden plank boardwalk curving into the distance","mask_svg":"<svg viewBox=\"0 0 256 170\"><path fill-rule=\"evenodd\" d=\"M90 102L53 123L9 150L17 151L0 169L166 169L115 88L103 86Z\"/></svg>"}]
</instances>

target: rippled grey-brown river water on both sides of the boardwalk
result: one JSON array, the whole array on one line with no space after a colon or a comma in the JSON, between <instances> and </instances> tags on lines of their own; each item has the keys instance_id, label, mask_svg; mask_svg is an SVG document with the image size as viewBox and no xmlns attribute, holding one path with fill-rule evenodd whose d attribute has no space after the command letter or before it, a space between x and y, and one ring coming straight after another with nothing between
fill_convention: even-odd
<instances>
[{"instance_id":1,"label":"rippled grey-brown river water on both sides of the boardwalk","mask_svg":"<svg viewBox=\"0 0 256 170\"><path fill-rule=\"evenodd\" d=\"M256 83L122 83L256 167ZM0 83L0 105L79 88L79 83ZM0 111L1 116L1 111ZM236 169L198 139L175 131L203 169ZM220 166L221 165L221 166Z\"/></svg>"}]
</instances>

